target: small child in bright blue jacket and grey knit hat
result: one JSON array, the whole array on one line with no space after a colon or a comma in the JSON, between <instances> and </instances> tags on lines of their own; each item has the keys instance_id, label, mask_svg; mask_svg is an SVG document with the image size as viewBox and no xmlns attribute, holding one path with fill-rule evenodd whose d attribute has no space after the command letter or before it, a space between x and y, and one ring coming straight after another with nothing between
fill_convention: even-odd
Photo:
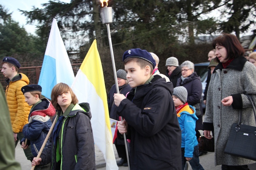
<instances>
[{"instance_id":1,"label":"small child in bright blue jacket and grey knit hat","mask_svg":"<svg viewBox=\"0 0 256 170\"><path fill-rule=\"evenodd\" d=\"M198 142L196 137L196 110L187 103L187 89L175 87L172 95L177 117L181 127L182 169L188 160L193 170L203 170L199 163Z\"/></svg>"}]
</instances>

